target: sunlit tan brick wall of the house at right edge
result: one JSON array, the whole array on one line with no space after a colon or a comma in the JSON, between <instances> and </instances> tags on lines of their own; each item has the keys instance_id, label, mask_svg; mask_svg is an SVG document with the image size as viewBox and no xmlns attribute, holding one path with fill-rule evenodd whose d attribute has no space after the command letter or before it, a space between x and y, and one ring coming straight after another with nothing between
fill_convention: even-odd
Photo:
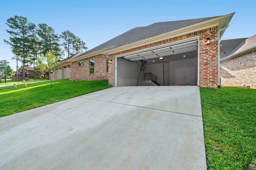
<instances>
[{"instance_id":1,"label":"sunlit tan brick wall of the house at right edge","mask_svg":"<svg viewBox=\"0 0 256 170\"><path fill-rule=\"evenodd\" d=\"M222 86L250 86L256 88L256 54L230 59L220 64Z\"/></svg>"}]
</instances>

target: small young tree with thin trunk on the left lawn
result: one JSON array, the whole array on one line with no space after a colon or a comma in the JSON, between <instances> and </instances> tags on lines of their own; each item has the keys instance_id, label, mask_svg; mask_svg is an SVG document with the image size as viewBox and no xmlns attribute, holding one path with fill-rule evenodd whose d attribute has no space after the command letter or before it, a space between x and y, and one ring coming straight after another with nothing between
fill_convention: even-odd
<instances>
[{"instance_id":1,"label":"small young tree with thin trunk on the left lawn","mask_svg":"<svg viewBox=\"0 0 256 170\"><path fill-rule=\"evenodd\" d=\"M50 84L52 86L52 78L51 78L51 71L54 70L54 68L59 67L59 59L56 55L52 53L52 51L47 51L46 55L41 55L41 61L38 65L40 68L40 71L45 73L46 70L48 71L49 78L50 78ZM43 71L44 70L44 71Z\"/></svg>"}]
</instances>

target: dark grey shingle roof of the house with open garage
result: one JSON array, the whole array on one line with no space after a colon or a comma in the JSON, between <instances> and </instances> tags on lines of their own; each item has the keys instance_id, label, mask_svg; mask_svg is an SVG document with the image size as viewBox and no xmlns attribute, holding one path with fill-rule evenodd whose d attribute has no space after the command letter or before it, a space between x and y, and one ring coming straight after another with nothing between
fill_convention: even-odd
<instances>
[{"instance_id":1,"label":"dark grey shingle roof of the house with open garage","mask_svg":"<svg viewBox=\"0 0 256 170\"><path fill-rule=\"evenodd\" d=\"M96 51L100 51L102 49L106 49L106 48L109 48L112 46L114 46L113 49L117 48L117 47L121 47L123 45L134 43L134 42L137 42L137 41L140 41L143 39L154 37L156 35L174 31L176 29L194 25L196 23L211 20L211 19L217 18L217 17L220 17L220 16L214 16L214 17L208 17L208 18L198 18L198 19L192 19L192 20L158 22L158 23L153 23L153 24L145 26L145 27L136 27L136 28L133 28L133 29L121 34L121 35L118 35L117 37L115 37L113 39L110 39L109 41L107 41L89 51L86 51L82 55L79 55L75 58L78 58L80 56L84 56L84 55L87 55L90 53L94 53Z\"/></svg>"}]
</instances>

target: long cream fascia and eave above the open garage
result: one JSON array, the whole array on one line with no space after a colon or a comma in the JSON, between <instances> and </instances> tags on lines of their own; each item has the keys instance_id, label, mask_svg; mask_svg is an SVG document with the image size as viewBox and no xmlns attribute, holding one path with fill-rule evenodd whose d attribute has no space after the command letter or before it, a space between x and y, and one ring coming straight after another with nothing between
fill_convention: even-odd
<instances>
[{"instance_id":1,"label":"long cream fascia and eave above the open garage","mask_svg":"<svg viewBox=\"0 0 256 170\"><path fill-rule=\"evenodd\" d=\"M194 25L190 25L190 26L183 27L183 28L180 28L180 29L177 29L177 30L174 30L174 31L170 31L168 33L163 33L163 34L160 34L160 35L156 35L154 37L150 37L148 39L144 39L144 40L141 40L141 41L130 43L128 45L123 45L121 47L117 47L117 48L108 50L106 52L109 55L109 54L113 54L113 53L116 53L116 52L119 52L119 51L125 51L127 49L132 49L134 47L140 47L142 45L147 45L147 44L154 43L154 42L157 42L157 41L162 41L162 40L165 40L165 39L168 39L168 38L171 38L171 37L184 35L186 33L195 32L195 31L206 29L206 28L209 28L209 27L219 26L221 22L222 23L223 22L224 23L229 22L233 15L234 15L234 13L228 14L228 15L225 15L225 16L220 16L220 17L217 17L217 18L213 18L211 20L203 21L203 22L200 22L200 23L196 23ZM218 28L218 29L221 29L221 28Z\"/></svg>"}]
</instances>

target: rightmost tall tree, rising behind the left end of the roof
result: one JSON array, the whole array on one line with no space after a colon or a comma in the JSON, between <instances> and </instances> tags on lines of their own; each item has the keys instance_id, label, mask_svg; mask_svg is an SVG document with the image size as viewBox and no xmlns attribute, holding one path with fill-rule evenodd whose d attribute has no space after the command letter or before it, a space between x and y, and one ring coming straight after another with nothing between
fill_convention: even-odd
<instances>
[{"instance_id":1,"label":"rightmost tall tree, rising behind the left end of the roof","mask_svg":"<svg viewBox=\"0 0 256 170\"><path fill-rule=\"evenodd\" d=\"M62 46L68 53L68 57L82 51L82 49L88 49L85 47L84 41L81 41L79 37L76 37L74 33L70 31L64 31L61 33L60 38L63 40Z\"/></svg>"}]
</instances>

